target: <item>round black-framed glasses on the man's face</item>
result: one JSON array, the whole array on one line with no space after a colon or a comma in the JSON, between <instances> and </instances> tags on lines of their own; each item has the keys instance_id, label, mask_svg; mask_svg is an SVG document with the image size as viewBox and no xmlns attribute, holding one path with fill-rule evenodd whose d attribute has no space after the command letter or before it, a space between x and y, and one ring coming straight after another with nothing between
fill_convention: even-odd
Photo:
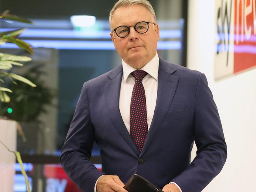
<instances>
[{"instance_id":1,"label":"round black-framed glasses on the man's face","mask_svg":"<svg viewBox=\"0 0 256 192\"><path fill-rule=\"evenodd\" d=\"M117 34L118 37L120 38L124 38L127 37L130 33L130 27L134 27L134 30L137 31L138 33L146 33L148 31L148 24L150 23L150 21L140 21L138 23L136 23L135 25L132 26L119 26L115 29L113 29L112 31L115 31L115 33ZM153 22L151 22L153 23ZM153 23L155 24L155 23Z\"/></svg>"}]
</instances>

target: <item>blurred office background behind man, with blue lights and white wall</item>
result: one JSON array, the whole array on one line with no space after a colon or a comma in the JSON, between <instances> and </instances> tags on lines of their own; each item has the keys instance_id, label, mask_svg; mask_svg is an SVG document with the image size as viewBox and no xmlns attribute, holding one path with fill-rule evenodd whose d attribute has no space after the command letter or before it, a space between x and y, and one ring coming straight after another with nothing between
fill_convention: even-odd
<instances>
[{"instance_id":1,"label":"blurred office background behind man, with blue lights and white wall","mask_svg":"<svg viewBox=\"0 0 256 192\"><path fill-rule=\"evenodd\" d=\"M108 15L114 2L0 0L0 13L9 9L34 22L0 19L0 32L28 28L20 39L35 52L30 55L15 44L0 45L1 53L32 57L12 71L37 87L10 83L8 87L14 90L9 94L11 102L0 103L0 116L22 125L27 141L17 136L17 151L33 192L79 191L59 165L59 155L83 83L121 64L109 35ZM160 26L158 54L205 73L221 116L228 159L204 191L255 189L256 0L150 2ZM4 134L0 138L8 140ZM196 146L191 160L195 151ZM91 161L101 169L96 144ZM0 175L4 168L0 164ZM13 183L13 191L26 191L19 164L15 164Z\"/></svg>"}]
</instances>

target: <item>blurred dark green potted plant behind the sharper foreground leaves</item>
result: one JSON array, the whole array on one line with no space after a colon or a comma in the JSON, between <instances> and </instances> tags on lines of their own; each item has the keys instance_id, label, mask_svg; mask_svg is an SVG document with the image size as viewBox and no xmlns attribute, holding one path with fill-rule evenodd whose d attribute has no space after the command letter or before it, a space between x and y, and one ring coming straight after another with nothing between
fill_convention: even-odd
<instances>
[{"instance_id":1,"label":"blurred dark green potted plant behind the sharper foreground leaves","mask_svg":"<svg viewBox=\"0 0 256 192\"><path fill-rule=\"evenodd\" d=\"M30 79L37 87L31 87L25 83L19 83L19 86L9 82L8 88L15 90L9 94L10 102L2 103L2 111L0 116L6 116L9 119L20 123L26 142L22 142L22 138L17 138L17 150L24 154L41 154L44 150L42 140L46 129L46 122L42 120L42 116L49 113L49 108L56 105L52 100L56 96L56 91L50 88L45 80L48 73L45 71L46 63L40 61L29 62L26 69L19 74ZM15 67L19 70L19 67Z\"/></svg>"}]
</instances>

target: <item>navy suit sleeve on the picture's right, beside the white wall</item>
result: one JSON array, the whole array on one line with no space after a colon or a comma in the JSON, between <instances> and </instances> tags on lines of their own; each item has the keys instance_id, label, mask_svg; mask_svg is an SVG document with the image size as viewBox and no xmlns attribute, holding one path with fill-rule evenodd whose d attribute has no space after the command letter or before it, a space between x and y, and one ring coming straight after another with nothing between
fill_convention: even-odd
<instances>
[{"instance_id":1,"label":"navy suit sleeve on the picture's right, beside the white wall","mask_svg":"<svg viewBox=\"0 0 256 192\"><path fill-rule=\"evenodd\" d=\"M183 192L203 190L219 174L227 157L221 120L204 74L198 79L193 130L197 156L172 180Z\"/></svg>"}]
</instances>

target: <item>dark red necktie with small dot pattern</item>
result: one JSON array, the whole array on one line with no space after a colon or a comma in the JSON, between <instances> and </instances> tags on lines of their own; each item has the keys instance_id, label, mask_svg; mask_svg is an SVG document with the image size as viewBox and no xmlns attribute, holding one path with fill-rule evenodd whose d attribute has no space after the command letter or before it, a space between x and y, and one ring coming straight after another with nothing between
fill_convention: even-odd
<instances>
[{"instance_id":1,"label":"dark red necktie with small dot pattern","mask_svg":"<svg viewBox=\"0 0 256 192\"><path fill-rule=\"evenodd\" d=\"M130 136L139 151L142 150L148 134L146 96L141 82L147 74L143 70L135 70L131 73L135 77L135 84L130 107Z\"/></svg>"}]
</instances>

